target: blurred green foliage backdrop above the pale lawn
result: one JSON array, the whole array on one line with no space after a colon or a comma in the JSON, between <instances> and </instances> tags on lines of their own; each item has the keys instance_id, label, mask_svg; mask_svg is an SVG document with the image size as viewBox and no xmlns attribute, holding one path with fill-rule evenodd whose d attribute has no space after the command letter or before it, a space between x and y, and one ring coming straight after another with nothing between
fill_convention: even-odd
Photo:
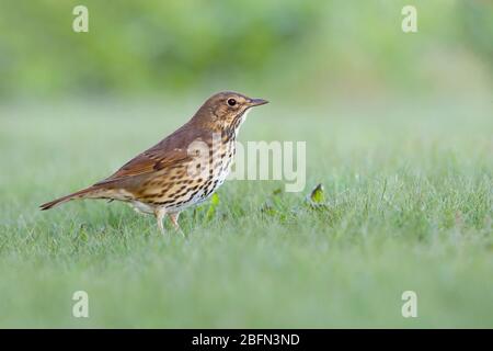
<instances>
[{"instance_id":1,"label":"blurred green foliage backdrop above the pale lawn","mask_svg":"<svg viewBox=\"0 0 493 351\"><path fill-rule=\"evenodd\" d=\"M77 4L89 33L71 29ZM405 4L417 9L415 34L401 31ZM0 2L2 99L478 92L492 70L489 0Z\"/></svg>"}]
</instances>

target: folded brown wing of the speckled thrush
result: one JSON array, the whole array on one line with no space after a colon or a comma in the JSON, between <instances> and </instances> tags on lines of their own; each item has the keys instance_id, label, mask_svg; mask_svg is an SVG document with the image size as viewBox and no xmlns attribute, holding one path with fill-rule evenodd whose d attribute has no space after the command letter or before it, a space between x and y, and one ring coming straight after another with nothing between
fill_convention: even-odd
<instances>
[{"instance_id":1,"label":"folded brown wing of the speckled thrush","mask_svg":"<svg viewBox=\"0 0 493 351\"><path fill-rule=\"evenodd\" d=\"M121 181L127 181L138 176L151 174L159 170L180 166L193 160L187 147L196 138L203 138L202 133L191 133L182 127L150 149L136 156L119 170L94 185L110 185Z\"/></svg>"}]
</instances>

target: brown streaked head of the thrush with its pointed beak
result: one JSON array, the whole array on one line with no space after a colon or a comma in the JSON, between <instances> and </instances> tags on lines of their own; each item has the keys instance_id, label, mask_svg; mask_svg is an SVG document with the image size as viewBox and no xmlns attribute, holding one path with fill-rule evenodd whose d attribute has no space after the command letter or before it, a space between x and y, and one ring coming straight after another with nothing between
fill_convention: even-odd
<instances>
[{"instance_id":1,"label":"brown streaked head of the thrush with its pointed beak","mask_svg":"<svg viewBox=\"0 0 493 351\"><path fill-rule=\"evenodd\" d=\"M207 99L193 120L214 131L237 131L251 107L267 102L263 99L248 98L237 92L219 92Z\"/></svg>"}]
</instances>

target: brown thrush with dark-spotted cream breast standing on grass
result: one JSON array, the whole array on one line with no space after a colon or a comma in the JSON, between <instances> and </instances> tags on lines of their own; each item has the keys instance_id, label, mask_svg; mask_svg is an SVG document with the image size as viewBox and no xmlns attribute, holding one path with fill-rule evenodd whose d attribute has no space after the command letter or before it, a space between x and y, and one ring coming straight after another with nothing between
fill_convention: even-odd
<instances>
[{"instance_id":1,"label":"brown thrush with dark-spotted cream breast standing on grass","mask_svg":"<svg viewBox=\"0 0 493 351\"><path fill-rule=\"evenodd\" d=\"M116 200L154 215L163 234L167 215L181 230L180 213L207 200L225 182L246 114L266 103L233 91L218 92L187 123L108 178L39 207L45 211L78 199Z\"/></svg>"}]
</instances>

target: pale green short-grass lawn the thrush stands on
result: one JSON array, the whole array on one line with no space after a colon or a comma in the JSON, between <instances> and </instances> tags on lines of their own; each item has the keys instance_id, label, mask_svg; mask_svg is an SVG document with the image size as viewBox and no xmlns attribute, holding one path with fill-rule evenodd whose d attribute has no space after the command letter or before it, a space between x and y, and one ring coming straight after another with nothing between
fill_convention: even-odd
<instances>
[{"instance_id":1,"label":"pale green short-grass lawn the thrush stands on","mask_svg":"<svg viewBox=\"0 0 493 351\"><path fill-rule=\"evenodd\" d=\"M0 327L493 326L491 102L282 106L250 114L241 139L306 140L306 190L228 181L213 218L183 214L187 239L124 204L37 205L108 176L193 104L2 106ZM305 205L317 183L322 210ZM408 290L417 318L401 316Z\"/></svg>"}]
</instances>

